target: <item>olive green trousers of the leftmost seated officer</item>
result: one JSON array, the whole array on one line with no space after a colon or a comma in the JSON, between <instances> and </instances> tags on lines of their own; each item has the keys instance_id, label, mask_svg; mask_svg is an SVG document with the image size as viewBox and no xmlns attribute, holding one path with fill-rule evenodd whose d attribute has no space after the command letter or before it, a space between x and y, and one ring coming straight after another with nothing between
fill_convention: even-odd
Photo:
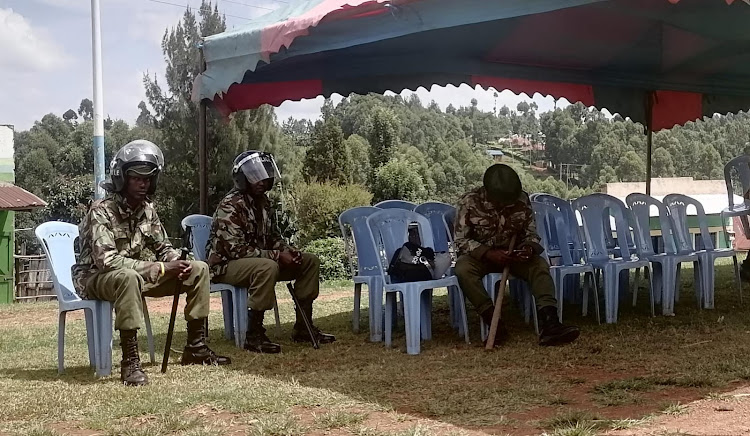
<instances>
[{"instance_id":1,"label":"olive green trousers of the leftmost seated officer","mask_svg":"<svg viewBox=\"0 0 750 436\"><path fill-rule=\"evenodd\" d=\"M191 261L193 269L182 281L182 292L187 294L185 319L192 321L208 317L209 281L208 265ZM143 297L174 295L180 286L177 277L161 277L156 283L146 283L132 269L99 272L86 282L86 295L90 299L110 301L115 308L115 329L135 330L143 326Z\"/></svg>"}]
</instances>

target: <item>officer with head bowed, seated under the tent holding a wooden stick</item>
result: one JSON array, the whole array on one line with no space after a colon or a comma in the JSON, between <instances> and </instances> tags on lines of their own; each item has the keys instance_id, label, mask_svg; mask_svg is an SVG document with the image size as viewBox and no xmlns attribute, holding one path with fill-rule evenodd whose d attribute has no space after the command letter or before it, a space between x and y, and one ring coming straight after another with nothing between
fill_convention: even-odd
<instances>
[{"instance_id":1,"label":"officer with head bowed, seated under the tent holding a wooden stick","mask_svg":"<svg viewBox=\"0 0 750 436\"><path fill-rule=\"evenodd\" d=\"M539 255L542 247L529 196L521 190L521 180L511 167L489 167L484 173L484 186L461 197L455 228L459 254L456 276L464 295L487 325L492 322L494 306L482 277L510 266L512 275L529 283L536 299L541 324L539 344L561 345L578 338L578 328L562 325L557 317L555 286L547 261ZM518 248L509 252L513 235ZM499 342L507 336L501 323Z\"/></svg>"}]
</instances>

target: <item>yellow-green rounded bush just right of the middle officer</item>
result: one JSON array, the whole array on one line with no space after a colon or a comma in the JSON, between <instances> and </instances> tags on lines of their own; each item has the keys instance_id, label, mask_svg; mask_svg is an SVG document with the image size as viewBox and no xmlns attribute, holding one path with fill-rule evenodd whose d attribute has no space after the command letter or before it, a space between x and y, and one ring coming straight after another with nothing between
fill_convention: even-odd
<instances>
[{"instance_id":1,"label":"yellow-green rounded bush just right of the middle officer","mask_svg":"<svg viewBox=\"0 0 750 436\"><path fill-rule=\"evenodd\" d=\"M356 206L367 206L372 194L358 185L330 183L299 184L294 192L300 243L338 236L341 212Z\"/></svg>"}]
</instances>

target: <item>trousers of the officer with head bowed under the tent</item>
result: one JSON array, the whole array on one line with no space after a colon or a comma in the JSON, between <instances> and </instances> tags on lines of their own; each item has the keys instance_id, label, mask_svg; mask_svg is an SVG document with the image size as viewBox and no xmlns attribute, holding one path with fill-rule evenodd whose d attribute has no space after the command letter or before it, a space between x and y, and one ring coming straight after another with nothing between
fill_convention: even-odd
<instances>
[{"instance_id":1,"label":"trousers of the officer with head bowed under the tent","mask_svg":"<svg viewBox=\"0 0 750 436\"><path fill-rule=\"evenodd\" d=\"M500 273L502 267L490 265L471 256L460 256L456 262L456 276L466 298L471 301L477 313L482 313L494 306L489 294L484 289L482 278L489 273ZM510 273L526 281L536 299L537 310L545 306L557 307L555 284L549 273L549 264L541 256L534 256L526 263L512 263Z\"/></svg>"}]
</instances>

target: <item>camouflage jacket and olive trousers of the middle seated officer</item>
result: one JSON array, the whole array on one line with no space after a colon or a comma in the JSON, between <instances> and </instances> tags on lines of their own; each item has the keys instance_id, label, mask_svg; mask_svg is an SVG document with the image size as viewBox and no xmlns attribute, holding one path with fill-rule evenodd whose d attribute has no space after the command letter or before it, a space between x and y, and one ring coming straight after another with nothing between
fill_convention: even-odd
<instances>
[{"instance_id":1,"label":"camouflage jacket and olive trousers of the middle seated officer","mask_svg":"<svg viewBox=\"0 0 750 436\"><path fill-rule=\"evenodd\" d=\"M279 254L290 250L273 225L267 196L253 198L237 189L219 203L211 224L206 258L213 280L248 290L248 308L265 311L273 308L278 281L296 280L300 302L312 302L320 288L320 261L302 253L302 265L283 268Z\"/></svg>"}]
</instances>

